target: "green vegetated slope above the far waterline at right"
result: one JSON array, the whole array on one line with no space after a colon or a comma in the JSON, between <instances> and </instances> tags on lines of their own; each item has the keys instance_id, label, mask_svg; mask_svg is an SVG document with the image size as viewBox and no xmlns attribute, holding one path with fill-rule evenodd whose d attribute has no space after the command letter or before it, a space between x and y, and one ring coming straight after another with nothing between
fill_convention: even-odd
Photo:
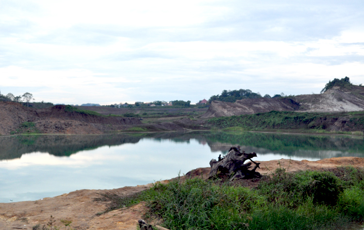
<instances>
[{"instance_id":1,"label":"green vegetated slope above the far waterline at right","mask_svg":"<svg viewBox=\"0 0 364 230\"><path fill-rule=\"evenodd\" d=\"M245 130L316 129L325 130L338 119L347 118L348 128L364 130L364 112L307 113L270 111L232 117L212 118L208 124L216 128L241 127Z\"/></svg>"}]
</instances>

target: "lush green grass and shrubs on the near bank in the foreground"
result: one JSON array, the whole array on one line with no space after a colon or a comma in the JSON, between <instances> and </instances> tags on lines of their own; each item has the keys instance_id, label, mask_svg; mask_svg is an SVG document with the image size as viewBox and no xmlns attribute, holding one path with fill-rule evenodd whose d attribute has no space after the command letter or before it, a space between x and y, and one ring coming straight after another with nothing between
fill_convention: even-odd
<instances>
[{"instance_id":1,"label":"lush green grass and shrubs on the near bank in the foreground","mask_svg":"<svg viewBox=\"0 0 364 230\"><path fill-rule=\"evenodd\" d=\"M363 169L343 167L298 173L277 169L255 188L175 180L154 184L114 209L144 200L149 207L144 218L159 219L171 230L348 229L364 222L363 178Z\"/></svg>"}]
</instances>

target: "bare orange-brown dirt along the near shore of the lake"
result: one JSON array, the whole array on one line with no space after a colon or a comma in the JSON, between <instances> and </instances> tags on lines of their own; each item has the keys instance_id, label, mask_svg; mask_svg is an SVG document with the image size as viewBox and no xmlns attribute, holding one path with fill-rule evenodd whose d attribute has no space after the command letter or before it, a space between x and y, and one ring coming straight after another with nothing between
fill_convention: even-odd
<instances>
[{"instance_id":1,"label":"bare orange-brown dirt along the near shore of the lake","mask_svg":"<svg viewBox=\"0 0 364 230\"><path fill-rule=\"evenodd\" d=\"M284 168L290 172L299 170L325 170L338 166L364 167L364 158L361 157L337 157L319 161L296 160L271 160L262 161L259 172L269 175L277 168ZM210 168L192 170L182 177L206 178ZM167 183L163 181L161 183ZM254 181L247 181L248 186L254 186ZM135 187L123 187L112 190L77 190L54 198L44 198L35 201L23 201L16 203L0 204L0 229L1 230L32 230L37 224L47 224L50 215L56 222L55 225L65 227L60 220L71 220L71 227L75 230L135 230L137 221L142 218L147 208L145 203L139 203L131 208L123 208L102 215L108 203L95 201L101 198L100 194L111 193L118 196L129 196L151 187L152 184L138 185Z\"/></svg>"}]
</instances>

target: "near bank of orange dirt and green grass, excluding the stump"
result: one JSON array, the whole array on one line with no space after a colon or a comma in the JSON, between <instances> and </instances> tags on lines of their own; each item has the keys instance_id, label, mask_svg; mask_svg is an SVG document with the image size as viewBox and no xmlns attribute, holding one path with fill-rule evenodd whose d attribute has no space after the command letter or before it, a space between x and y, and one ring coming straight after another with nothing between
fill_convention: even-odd
<instances>
[{"instance_id":1,"label":"near bank of orange dirt and green grass, excluding the stump","mask_svg":"<svg viewBox=\"0 0 364 230\"><path fill-rule=\"evenodd\" d=\"M273 160L261 162L259 169L263 175L274 172L272 178L234 184L201 180L209 168L196 169L186 174L191 180L180 177L181 183L1 203L0 229L41 229L50 215L53 226L65 229L61 220L67 220L80 230L135 230L137 220L146 217L171 230L349 229L363 223L363 167L361 157ZM315 171L301 171L308 169Z\"/></svg>"}]
</instances>

